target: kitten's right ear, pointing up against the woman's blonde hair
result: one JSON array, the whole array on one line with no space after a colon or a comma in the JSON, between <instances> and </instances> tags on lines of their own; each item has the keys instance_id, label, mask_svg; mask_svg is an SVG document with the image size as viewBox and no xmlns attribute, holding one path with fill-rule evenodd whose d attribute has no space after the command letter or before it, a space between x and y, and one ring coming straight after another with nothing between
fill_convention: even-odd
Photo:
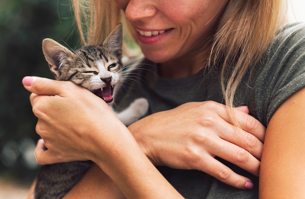
<instances>
[{"instance_id":1,"label":"kitten's right ear, pointing up against the woman's blonde hair","mask_svg":"<svg viewBox=\"0 0 305 199\"><path fill-rule=\"evenodd\" d=\"M107 36L103 46L111 49L117 56L122 55L122 43L123 43L123 30L122 24L118 24L114 27L114 30Z\"/></svg>"}]
</instances>

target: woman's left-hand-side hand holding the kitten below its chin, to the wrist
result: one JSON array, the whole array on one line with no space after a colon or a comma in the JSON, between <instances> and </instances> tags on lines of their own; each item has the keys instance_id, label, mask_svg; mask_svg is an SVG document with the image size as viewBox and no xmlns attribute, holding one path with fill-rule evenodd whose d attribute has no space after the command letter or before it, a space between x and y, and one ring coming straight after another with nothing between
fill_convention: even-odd
<instances>
[{"instance_id":1,"label":"woman's left-hand-side hand holding the kitten below its chin, to the wrist","mask_svg":"<svg viewBox=\"0 0 305 199\"><path fill-rule=\"evenodd\" d=\"M37 78L25 77L23 84L32 92L31 104L38 117L36 131L44 140L38 142L35 150L38 163L92 160L96 153L93 141L99 136L96 129L100 134L117 131L120 121L89 90L70 81L39 78L34 82Z\"/></svg>"}]
</instances>

